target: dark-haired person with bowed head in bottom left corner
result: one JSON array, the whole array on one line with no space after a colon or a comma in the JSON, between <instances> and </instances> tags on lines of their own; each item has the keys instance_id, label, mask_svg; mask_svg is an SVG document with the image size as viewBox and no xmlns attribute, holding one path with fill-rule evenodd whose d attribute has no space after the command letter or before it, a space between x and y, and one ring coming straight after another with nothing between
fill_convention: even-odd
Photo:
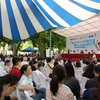
<instances>
[{"instance_id":1,"label":"dark-haired person with bowed head in bottom left corner","mask_svg":"<svg viewBox=\"0 0 100 100\"><path fill-rule=\"evenodd\" d=\"M18 78L12 74L0 77L0 100L18 100L15 96L9 96L17 87Z\"/></svg>"}]
</instances>

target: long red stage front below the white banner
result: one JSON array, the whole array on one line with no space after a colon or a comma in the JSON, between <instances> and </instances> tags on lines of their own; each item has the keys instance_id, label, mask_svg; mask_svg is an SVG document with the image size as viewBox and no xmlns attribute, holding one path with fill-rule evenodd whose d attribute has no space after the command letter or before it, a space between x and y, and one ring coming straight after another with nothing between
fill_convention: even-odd
<instances>
[{"instance_id":1,"label":"long red stage front below the white banner","mask_svg":"<svg viewBox=\"0 0 100 100\"><path fill-rule=\"evenodd\" d=\"M69 59L71 58L72 61L77 61L80 59L83 59L84 57L87 57L89 59L91 59L93 56L93 54L62 54L60 59ZM96 54L97 58L100 58L100 54Z\"/></svg>"}]
</instances>

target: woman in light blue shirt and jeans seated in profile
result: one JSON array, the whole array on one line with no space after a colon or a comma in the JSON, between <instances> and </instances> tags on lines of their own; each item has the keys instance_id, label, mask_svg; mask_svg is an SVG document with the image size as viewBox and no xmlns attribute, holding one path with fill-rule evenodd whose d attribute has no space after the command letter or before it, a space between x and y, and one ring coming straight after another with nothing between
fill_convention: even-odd
<instances>
[{"instance_id":1,"label":"woman in light blue shirt and jeans seated in profile","mask_svg":"<svg viewBox=\"0 0 100 100\"><path fill-rule=\"evenodd\" d=\"M32 75L32 69L29 65L23 65L21 67L21 78L19 81L19 90L25 91L29 93L30 97L32 97L34 100L41 100L42 98L45 99L45 89L39 89L36 93L35 87L33 87L33 82L30 77Z\"/></svg>"}]
</instances>

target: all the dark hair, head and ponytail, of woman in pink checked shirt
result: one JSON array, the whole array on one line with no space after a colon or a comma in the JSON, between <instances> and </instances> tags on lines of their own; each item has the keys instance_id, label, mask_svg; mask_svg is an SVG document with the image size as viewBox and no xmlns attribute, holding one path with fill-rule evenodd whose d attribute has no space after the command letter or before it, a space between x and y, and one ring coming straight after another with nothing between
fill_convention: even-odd
<instances>
[{"instance_id":1,"label":"all the dark hair, head and ponytail, of woman in pink checked shirt","mask_svg":"<svg viewBox=\"0 0 100 100\"><path fill-rule=\"evenodd\" d=\"M59 84L62 83L65 78L66 78L65 68L61 65L56 65L53 68L52 79L50 81L50 91L54 96L57 95Z\"/></svg>"}]
</instances>

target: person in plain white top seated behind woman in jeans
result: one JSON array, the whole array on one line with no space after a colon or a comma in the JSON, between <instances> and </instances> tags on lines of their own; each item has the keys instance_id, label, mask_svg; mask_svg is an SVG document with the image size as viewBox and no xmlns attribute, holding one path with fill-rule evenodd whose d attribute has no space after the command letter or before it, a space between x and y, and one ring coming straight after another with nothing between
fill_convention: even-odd
<instances>
[{"instance_id":1,"label":"person in plain white top seated behind woman in jeans","mask_svg":"<svg viewBox=\"0 0 100 100\"><path fill-rule=\"evenodd\" d=\"M46 77L41 73L43 69L43 63L38 63L38 70L32 72L32 81L36 83L36 87L47 88L48 82L46 81Z\"/></svg>"}]
</instances>

